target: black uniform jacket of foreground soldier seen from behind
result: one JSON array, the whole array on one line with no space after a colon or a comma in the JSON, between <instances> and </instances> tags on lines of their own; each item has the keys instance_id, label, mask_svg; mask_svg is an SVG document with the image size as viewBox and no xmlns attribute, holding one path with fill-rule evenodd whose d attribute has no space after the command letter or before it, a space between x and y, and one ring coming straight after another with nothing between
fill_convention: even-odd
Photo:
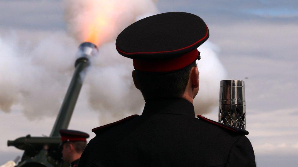
<instances>
[{"instance_id":1,"label":"black uniform jacket of foreground soldier seen from behind","mask_svg":"<svg viewBox=\"0 0 298 167\"><path fill-rule=\"evenodd\" d=\"M93 129L78 166L256 166L246 136L206 120L185 99L147 101L141 116Z\"/></svg>"}]
</instances>

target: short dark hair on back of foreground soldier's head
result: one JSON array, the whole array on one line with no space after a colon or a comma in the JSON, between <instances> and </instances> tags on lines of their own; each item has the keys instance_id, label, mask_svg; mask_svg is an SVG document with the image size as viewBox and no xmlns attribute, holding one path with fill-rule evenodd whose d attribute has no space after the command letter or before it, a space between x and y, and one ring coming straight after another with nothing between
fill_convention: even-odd
<instances>
[{"instance_id":1,"label":"short dark hair on back of foreground soldier's head","mask_svg":"<svg viewBox=\"0 0 298 167\"><path fill-rule=\"evenodd\" d=\"M135 79L145 100L156 97L181 97L184 94L191 68L188 66L169 73L148 73L136 70Z\"/></svg>"}]
</instances>

